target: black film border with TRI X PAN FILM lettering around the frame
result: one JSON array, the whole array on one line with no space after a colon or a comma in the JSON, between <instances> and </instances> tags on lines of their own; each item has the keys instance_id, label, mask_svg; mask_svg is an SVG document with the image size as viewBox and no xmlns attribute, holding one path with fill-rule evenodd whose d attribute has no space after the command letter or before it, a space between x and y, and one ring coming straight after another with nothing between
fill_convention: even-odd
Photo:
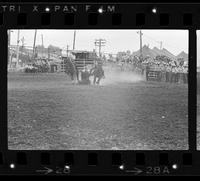
<instances>
[{"instance_id":1,"label":"black film border with TRI X PAN FILM lettering around the frame","mask_svg":"<svg viewBox=\"0 0 200 181\"><path fill-rule=\"evenodd\" d=\"M3 5L17 6L16 3L2 3ZM73 3L73 5L76 3ZM0 4L1 5L1 4ZM105 12L99 14L97 10L102 4L89 3L92 8L85 11L87 4L76 4L79 10L76 12L46 12L46 7L50 9L55 4L39 3L42 9L38 14L30 13L31 3L23 3L24 9L19 13L16 11L0 11L0 44L1 73L0 90L3 93L1 102L4 109L0 109L0 174L105 174L105 175L187 175L199 174L200 154L196 151L196 30L200 28L200 4L105 4L115 6L115 12ZM56 4L62 6L63 4ZM31 8L30 8L31 7ZM152 13L156 8L157 13ZM22 14L23 15L22 15ZM41 25L41 16L50 16L50 22ZM50 15L51 14L51 15ZM66 15L74 15L74 24L64 24ZM88 24L88 15L92 14L93 24ZM24 17L26 21L19 23L18 16ZM94 18L97 16L98 18ZM63 17L62 21L56 21L58 17ZM117 18L116 18L117 17ZM160 18L168 23L162 22ZM116 18L116 20L113 19ZM161 18L161 19L162 19ZM120 19L120 20L119 20ZM133 21L130 21L133 20ZM117 23L113 23L113 21ZM120 22L119 22L120 21ZM24 23L24 22L27 22ZM38 23L39 22L39 23ZM113 23L113 24L112 24ZM10 151L7 150L7 29L187 29L189 30L189 150L184 151ZM72 154L72 156L66 156ZM1 156L2 155L2 156ZM91 156L92 155L92 156ZM96 155L96 156L95 156ZM167 155L167 156L166 156ZM1 158L2 157L2 158ZM66 158L66 163L63 159ZM160 158L160 159L159 159ZM95 160L95 161L94 161ZM1 164L2 162L2 164ZM89 162L89 163L88 163ZM97 165L95 166L95 164ZM167 169L162 166L168 166ZM175 165L174 165L175 164ZM177 164L177 165L176 165ZM71 167L69 167L71 165ZM93 166L92 166L93 165ZM66 166L66 167L65 167ZM174 166L174 167L173 167ZM177 168L176 168L177 166ZM172 168L173 167L173 168ZM71 168L71 169L70 169Z\"/></svg>"}]
</instances>

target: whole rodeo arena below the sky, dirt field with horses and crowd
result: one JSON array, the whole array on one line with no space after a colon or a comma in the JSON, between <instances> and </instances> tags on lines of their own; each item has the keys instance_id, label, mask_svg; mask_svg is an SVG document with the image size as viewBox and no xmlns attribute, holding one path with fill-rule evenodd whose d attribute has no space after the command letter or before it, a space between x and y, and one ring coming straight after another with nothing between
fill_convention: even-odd
<instances>
[{"instance_id":1,"label":"whole rodeo arena below the sky, dirt field with horses and crowd","mask_svg":"<svg viewBox=\"0 0 200 181\"><path fill-rule=\"evenodd\" d=\"M188 54L148 45L112 54L102 42L9 45L9 149L188 149Z\"/></svg>"}]
</instances>

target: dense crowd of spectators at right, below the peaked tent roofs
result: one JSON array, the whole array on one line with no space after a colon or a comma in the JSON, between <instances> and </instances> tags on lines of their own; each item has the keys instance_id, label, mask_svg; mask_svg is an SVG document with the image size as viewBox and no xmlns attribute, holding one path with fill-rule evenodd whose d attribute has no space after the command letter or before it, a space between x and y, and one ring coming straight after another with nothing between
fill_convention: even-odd
<instances>
[{"instance_id":1,"label":"dense crowd of spectators at right, below the peaked tent roofs","mask_svg":"<svg viewBox=\"0 0 200 181\"><path fill-rule=\"evenodd\" d=\"M188 83L188 64L186 61L171 60L166 56L155 58L143 57L122 61L121 70L132 65L132 71L146 76L146 80L156 80L170 83ZM130 66L129 66L130 67Z\"/></svg>"}]
</instances>

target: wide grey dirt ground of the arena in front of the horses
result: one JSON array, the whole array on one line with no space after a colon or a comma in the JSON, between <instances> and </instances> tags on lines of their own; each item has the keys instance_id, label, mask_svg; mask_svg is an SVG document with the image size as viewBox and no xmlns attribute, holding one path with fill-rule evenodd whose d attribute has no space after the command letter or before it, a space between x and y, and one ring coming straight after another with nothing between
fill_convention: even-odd
<instances>
[{"instance_id":1,"label":"wide grey dirt ground of the arena in front of the horses","mask_svg":"<svg viewBox=\"0 0 200 181\"><path fill-rule=\"evenodd\" d=\"M185 150L188 88L140 79L74 85L64 74L9 73L8 135L14 150Z\"/></svg>"}]
</instances>

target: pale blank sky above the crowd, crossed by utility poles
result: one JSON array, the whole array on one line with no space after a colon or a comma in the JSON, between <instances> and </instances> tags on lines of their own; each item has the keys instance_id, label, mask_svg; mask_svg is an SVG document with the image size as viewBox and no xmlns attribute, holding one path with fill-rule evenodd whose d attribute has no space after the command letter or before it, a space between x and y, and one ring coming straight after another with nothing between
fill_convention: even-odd
<instances>
[{"instance_id":1,"label":"pale blank sky above the crowd, crossed by utility poles","mask_svg":"<svg viewBox=\"0 0 200 181\"><path fill-rule=\"evenodd\" d=\"M92 51L95 39L105 39L106 44L102 48L102 52L116 54L119 51L131 52L137 51L140 47L140 37L137 33L139 30L76 30L76 50ZM18 30L11 32L11 45L17 44ZM20 30L20 39L24 37L25 46L33 46L35 30ZM36 45L42 44L42 35L44 46L49 44L65 48L69 45L69 49L73 47L74 30L37 30ZM142 44L149 45L150 48L168 49L174 55L178 55L181 51L188 53L188 30L142 30ZM20 45L22 42L20 42Z\"/></svg>"}]
</instances>

